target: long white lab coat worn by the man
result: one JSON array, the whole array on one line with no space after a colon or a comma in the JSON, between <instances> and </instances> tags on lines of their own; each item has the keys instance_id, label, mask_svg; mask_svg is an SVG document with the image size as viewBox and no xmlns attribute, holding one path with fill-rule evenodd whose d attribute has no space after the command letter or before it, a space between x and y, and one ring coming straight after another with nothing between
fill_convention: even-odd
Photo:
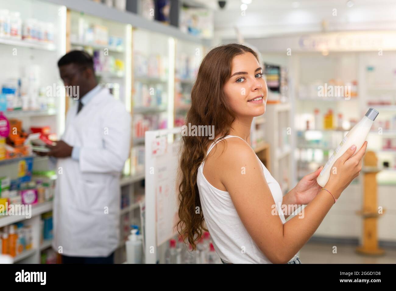
<instances>
[{"instance_id":1,"label":"long white lab coat worn by the man","mask_svg":"<svg viewBox=\"0 0 396 291\"><path fill-rule=\"evenodd\" d=\"M68 256L107 257L120 241L120 172L131 116L108 89L76 112L77 105L69 109L62 140L80 147L80 159L57 162L52 247Z\"/></svg>"}]
</instances>

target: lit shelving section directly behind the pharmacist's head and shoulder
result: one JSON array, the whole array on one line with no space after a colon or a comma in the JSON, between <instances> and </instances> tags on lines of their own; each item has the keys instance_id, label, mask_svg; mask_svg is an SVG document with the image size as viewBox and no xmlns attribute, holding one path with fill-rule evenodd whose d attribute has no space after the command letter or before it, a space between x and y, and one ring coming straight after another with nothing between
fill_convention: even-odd
<instances>
[{"instance_id":1,"label":"lit shelving section directly behind the pharmacist's head and shoulder","mask_svg":"<svg viewBox=\"0 0 396 291\"><path fill-rule=\"evenodd\" d=\"M99 83L131 111L131 25L74 10L68 11L67 19L67 51L83 49L91 54Z\"/></svg>"}]
</instances>

